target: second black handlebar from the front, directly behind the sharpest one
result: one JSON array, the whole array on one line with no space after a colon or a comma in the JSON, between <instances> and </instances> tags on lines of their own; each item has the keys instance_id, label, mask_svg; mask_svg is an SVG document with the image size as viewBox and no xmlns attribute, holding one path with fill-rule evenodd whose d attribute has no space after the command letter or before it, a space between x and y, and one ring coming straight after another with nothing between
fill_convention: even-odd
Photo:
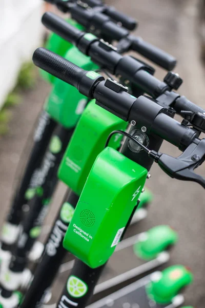
<instances>
[{"instance_id":1,"label":"second black handlebar from the front, directly behind the sharpest one","mask_svg":"<svg viewBox=\"0 0 205 308\"><path fill-rule=\"evenodd\" d=\"M130 56L120 55L112 46L99 41L99 39L92 34L85 34L77 30L64 21L63 18L53 13L45 13L42 22L46 27L61 37L67 38L67 40L77 46L81 52L91 56L93 62L101 67L105 67L111 73L121 75L122 78L133 82L153 98L157 99L163 93L167 93L167 97L176 94L171 91L172 88L169 84L161 82L149 74L145 65ZM164 102L167 101L167 97L163 99ZM196 106L185 97L180 97L178 94L175 95L171 106L178 113L180 113L181 110L204 112L202 108Z\"/></svg>"}]
</instances>

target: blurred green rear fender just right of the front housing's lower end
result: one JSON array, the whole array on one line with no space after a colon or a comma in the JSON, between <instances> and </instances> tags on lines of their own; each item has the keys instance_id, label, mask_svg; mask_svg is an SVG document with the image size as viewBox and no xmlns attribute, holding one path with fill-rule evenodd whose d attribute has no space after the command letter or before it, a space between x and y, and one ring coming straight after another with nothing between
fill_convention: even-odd
<instances>
[{"instance_id":1,"label":"blurred green rear fender just right of the front housing's lower end","mask_svg":"<svg viewBox=\"0 0 205 308\"><path fill-rule=\"evenodd\" d=\"M137 257L143 260L155 259L169 246L176 244L178 235L170 226L160 225L142 233L133 249Z\"/></svg>"}]
</instances>

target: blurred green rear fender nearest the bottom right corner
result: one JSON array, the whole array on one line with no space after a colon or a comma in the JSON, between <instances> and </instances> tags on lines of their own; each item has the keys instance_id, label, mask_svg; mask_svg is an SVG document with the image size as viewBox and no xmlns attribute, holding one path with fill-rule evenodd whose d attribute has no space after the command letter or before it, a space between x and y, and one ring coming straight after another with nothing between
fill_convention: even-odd
<instances>
[{"instance_id":1,"label":"blurred green rear fender nearest the bottom right corner","mask_svg":"<svg viewBox=\"0 0 205 308\"><path fill-rule=\"evenodd\" d=\"M180 290L193 281L190 270L183 265L174 265L156 272L147 285L148 296L159 304L171 303Z\"/></svg>"}]
</instances>

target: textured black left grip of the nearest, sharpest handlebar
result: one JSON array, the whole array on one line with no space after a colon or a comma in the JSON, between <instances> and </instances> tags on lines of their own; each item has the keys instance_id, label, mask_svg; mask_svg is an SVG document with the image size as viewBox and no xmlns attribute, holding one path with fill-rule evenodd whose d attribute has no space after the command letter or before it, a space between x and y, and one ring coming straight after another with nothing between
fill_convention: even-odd
<instances>
[{"instance_id":1,"label":"textured black left grip of the nearest, sharpest handlebar","mask_svg":"<svg viewBox=\"0 0 205 308\"><path fill-rule=\"evenodd\" d=\"M76 88L78 88L82 76L87 73L84 69L45 48L35 50L33 63Z\"/></svg>"}]
</instances>

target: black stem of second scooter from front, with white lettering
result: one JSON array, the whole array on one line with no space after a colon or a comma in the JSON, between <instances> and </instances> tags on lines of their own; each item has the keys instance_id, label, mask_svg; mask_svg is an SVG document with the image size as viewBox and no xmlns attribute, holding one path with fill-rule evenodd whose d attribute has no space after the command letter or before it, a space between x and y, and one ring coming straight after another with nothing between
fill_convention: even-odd
<instances>
[{"instance_id":1,"label":"black stem of second scooter from front, with white lettering","mask_svg":"<svg viewBox=\"0 0 205 308\"><path fill-rule=\"evenodd\" d=\"M20 308L43 307L47 290L52 285L64 257L69 254L63 247L63 240L70 220L67 220L64 217L62 214L62 209L67 203L75 208L78 199L79 197L73 191L68 191L66 193L64 201L51 228L51 232L46 240L43 259L35 270L34 279L29 287L29 290L26 292Z\"/></svg>"}]
</instances>

